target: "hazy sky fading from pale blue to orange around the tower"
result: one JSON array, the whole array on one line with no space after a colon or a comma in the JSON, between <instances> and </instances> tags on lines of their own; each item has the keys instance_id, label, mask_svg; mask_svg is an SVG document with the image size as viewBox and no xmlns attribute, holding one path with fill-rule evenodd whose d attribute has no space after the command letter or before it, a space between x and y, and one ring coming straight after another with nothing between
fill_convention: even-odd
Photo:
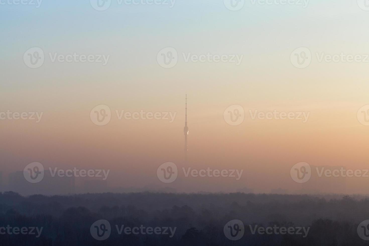
<instances>
[{"instance_id":1,"label":"hazy sky fading from pale blue to orange around the tower","mask_svg":"<svg viewBox=\"0 0 369 246\"><path fill-rule=\"evenodd\" d=\"M42 112L39 122L0 120L4 182L8 173L39 162L45 168L110 169L110 187L302 192L306 186L290 176L296 163L369 169L369 126L358 117L369 104L369 11L364 1L310 0L304 6L297 0L286 5L248 0L237 11L227 8L227 0L176 0L172 7L163 1L134 5L111 0L99 11L93 0L43 0L38 7L36 1L14 5L14 0L0 0L0 112ZM33 47L44 52L38 68L24 60ZM177 63L164 68L160 57L169 53L161 51L168 47L177 52ZM300 47L311 52L304 68L291 58ZM56 53L108 60L106 65L53 62ZM242 60L186 61L188 55L207 53ZM319 61L322 55L341 53L367 61ZM103 126L90 117L98 105L111 110ZM228 107L235 112L232 105L244 110L238 125L224 116ZM116 110L170 112L175 118L118 119ZM309 116L306 122L253 119L256 110ZM179 170L169 184L156 174L166 162ZM239 180L186 177L182 167L243 173ZM369 193L368 183L369 177L348 177L344 192Z\"/></svg>"}]
</instances>

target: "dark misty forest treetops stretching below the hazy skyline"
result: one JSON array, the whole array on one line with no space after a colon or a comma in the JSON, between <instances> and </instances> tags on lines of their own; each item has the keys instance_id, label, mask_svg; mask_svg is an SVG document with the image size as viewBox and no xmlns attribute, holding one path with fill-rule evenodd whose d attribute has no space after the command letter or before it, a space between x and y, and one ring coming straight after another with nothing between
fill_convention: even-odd
<instances>
[{"instance_id":1,"label":"dark misty forest treetops stretching below the hazy skyline","mask_svg":"<svg viewBox=\"0 0 369 246\"><path fill-rule=\"evenodd\" d=\"M38 227L41 235L0 235L3 246L74 245L367 245L356 231L369 218L369 199L361 196L278 194L76 194L69 196L0 193L0 227ZM106 240L90 228L104 219L111 224ZM224 225L245 224L244 236L229 240ZM115 225L131 228L176 228L169 235L119 235ZM306 238L290 234L252 234L250 226L306 226ZM1 231L0 231L1 232Z\"/></svg>"}]
</instances>

